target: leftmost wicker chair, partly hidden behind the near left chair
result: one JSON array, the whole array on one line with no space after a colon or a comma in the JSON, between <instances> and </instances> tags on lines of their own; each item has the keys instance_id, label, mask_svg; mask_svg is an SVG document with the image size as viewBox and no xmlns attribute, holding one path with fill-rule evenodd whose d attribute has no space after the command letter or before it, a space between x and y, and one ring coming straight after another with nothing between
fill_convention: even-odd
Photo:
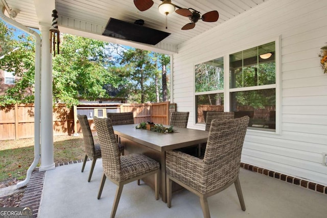
<instances>
[{"instance_id":1,"label":"leftmost wicker chair, partly hidden behind the near left chair","mask_svg":"<svg viewBox=\"0 0 327 218\"><path fill-rule=\"evenodd\" d=\"M84 145L85 145L85 157L83 161L82 172L84 172L87 157L91 157L93 159L91 165L91 171L87 180L89 182L91 181L91 177L94 170L94 166L96 165L96 161L98 158L101 158L101 149L100 149L100 144L94 142L92 131L87 120L87 116L77 114L77 118L82 129Z\"/></svg>"}]
</instances>

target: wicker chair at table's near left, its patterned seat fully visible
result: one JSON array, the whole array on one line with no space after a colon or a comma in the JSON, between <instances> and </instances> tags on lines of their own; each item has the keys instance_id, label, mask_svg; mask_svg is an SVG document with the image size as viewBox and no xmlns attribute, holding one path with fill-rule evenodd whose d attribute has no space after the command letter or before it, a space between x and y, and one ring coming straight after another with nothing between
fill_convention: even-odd
<instances>
[{"instance_id":1,"label":"wicker chair at table's near left, its patterned seat fully visible","mask_svg":"<svg viewBox=\"0 0 327 218\"><path fill-rule=\"evenodd\" d=\"M158 200L160 164L141 154L120 156L110 118L94 117L94 122L100 141L104 172L98 192L98 199L101 198L107 177L114 184L118 185L110 217L113 218L115 216L123 186L132 181L154 174L155 199Z\"/></svg>"}]
</instances>

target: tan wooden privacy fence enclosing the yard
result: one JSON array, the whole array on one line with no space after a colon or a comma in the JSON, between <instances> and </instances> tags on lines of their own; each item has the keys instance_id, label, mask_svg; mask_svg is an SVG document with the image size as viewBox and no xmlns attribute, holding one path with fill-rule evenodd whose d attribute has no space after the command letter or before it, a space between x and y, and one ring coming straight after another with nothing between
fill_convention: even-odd
<instances>
[{"instance_id":1,"label":"tan wooden privacy fence enclosing the yard","mask_svg":"<svg viewBox=\"0 0 327 218\"><path fill-rule=\"evenodd\" d=\"M121 112L132 111L134 123L147 122L156 124L169 124L170 103L153 104L123 104L119 107ZM99 109L97 109L99 110ZM104 110L104 117L106 117ZM119 112L119 111L118 111ZM76 112L75 112L76 113ZM81 129L77 122L74 109L66 108L65 105L55 105L53 109L53 133L54 135L72 135L80 133ZM76 124L76 129L74 128ZM90 120L91 129L94 129ZM75 131L74 131L75 129ZM0 140L12 140L34 137L34 105L15 104L9 107L0 107Z\"/></svg>"}]
</instances>

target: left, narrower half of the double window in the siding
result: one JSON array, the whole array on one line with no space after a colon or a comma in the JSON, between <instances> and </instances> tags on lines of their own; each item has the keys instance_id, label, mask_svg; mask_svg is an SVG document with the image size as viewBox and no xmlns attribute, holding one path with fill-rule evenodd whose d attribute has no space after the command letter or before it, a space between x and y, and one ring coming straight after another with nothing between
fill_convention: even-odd
<instances>
[{"instance_id":1,"label":"left, narrower half of the double window in the siding","mask_svg":"<svg viewBox=\"0 0 327 218\"><path fill-rule=\"evenodd\" d=\"M224 59L195 65L196 123L204 123L206 111L224 111Z\"/></svg>"}]
</instances>

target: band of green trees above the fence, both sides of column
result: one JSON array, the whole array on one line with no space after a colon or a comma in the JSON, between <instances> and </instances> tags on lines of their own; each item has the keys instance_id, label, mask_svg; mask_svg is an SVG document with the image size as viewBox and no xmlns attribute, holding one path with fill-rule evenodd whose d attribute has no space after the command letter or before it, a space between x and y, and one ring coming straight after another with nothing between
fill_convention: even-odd
<instances>
[{"instance_id":1,"label":"band of green trees above the fence, both sides of column","mask_svg":"<svg viewBox=\"0 0 327 218\"><path fill-rule=\"evenodd\" d=\"M18 77L15 86L0 96L0 106L32 103L34 39L25 35L12 39L14 30L2 21L0 30L0 54L6 52L0 67ZM96 100L110 96L128 97L137 103L155 102L161 89L158 68L168 63L169 56L162 54L62 34L60 54L53 57L53 100L67 107L78 104L79 98Z\"/></svg>"}]
</instances>

